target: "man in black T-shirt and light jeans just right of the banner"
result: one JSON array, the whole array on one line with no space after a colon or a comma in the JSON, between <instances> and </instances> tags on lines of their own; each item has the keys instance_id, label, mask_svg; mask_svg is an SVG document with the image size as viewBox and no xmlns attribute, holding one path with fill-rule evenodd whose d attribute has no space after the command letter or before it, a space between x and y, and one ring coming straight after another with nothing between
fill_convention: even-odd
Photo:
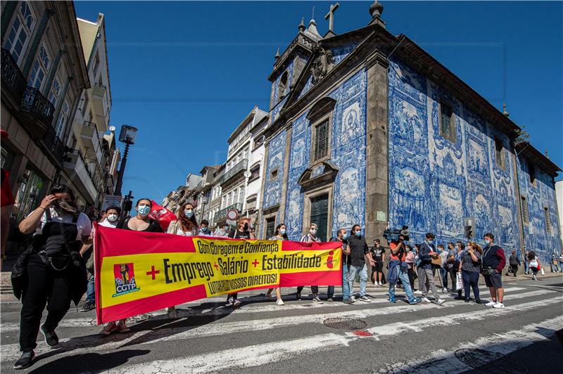
<instances>
[{"instance_id":1,"label":"man in black T-shirt and light jeans just right of the banner","mask_svg":"<svg viewBox=\"0 0 563 374\"><path fill-rule=\"evenodd\" d=\"M350 265L350 273L348 273L348 285L350 287L350 298L355 300L354 296L354 279L356 274L360 273L360 295L358 300L362 302L371 302L369 297L365 295L365 288L367 285L367 265L365 258L369 260L372 266L375 265L372 259L372 254L369 253L369 247L362 236L362 228L360 225L354 225L350 230L350 237L348 238L348 245L350 246L350 256L348 257L348 264Z\"/></svg>"}]
</instances>

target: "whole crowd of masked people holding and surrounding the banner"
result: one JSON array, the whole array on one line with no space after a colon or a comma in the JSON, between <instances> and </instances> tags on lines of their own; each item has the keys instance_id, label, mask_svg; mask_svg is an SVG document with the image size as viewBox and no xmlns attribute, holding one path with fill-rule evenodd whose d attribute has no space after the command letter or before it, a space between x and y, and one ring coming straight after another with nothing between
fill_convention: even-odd
<instances>
[{"instance_id":1,"label":"whole crowd of masked people holding and surrounding the banner","mask_svg":"<svg viewBox=\"0 0 563 374\"><path fill-rule=\"evenodd\" d=\"M99 219L100 226L129 231L162 233L160 223L149 215L153 202L141 198L135 205L136 214L122 214L120 207L108 207ZM255 240L251 219L243 217L236 227L222 224L212 230L208 221L198 222L194 205L189 202L181 205L176 219L167 226L166 233L179 236L205 236L215 238L232 238L239 240ZM96 307L94 284L94 255L92 242L94 228L91 219L77 209L76 199L72 190L66 186L52 188L37 207L18 226L25 234L32 234L32 245L23 252L16 262L12 282L14 294L22 301L20 313L20 350L23 352L15 362L14 368L29 367L34 360L33 349L37 346L38 333L44 335L46 344L55 347L58 336L55 330L70 308L70 303L77 305L84 293L86 299L80 311L90 311ZM318 227L310 223L308 231L302 236L303 243L318 243ZM288 240L286 225L279 224L269 240ZM331 241L341 243L342 261L342 302L371 302L373 296L367 294L368 279L381 287L388 283L388 301L396 303L399 299L396 292L405 292L405 301L409 304L435 303L441 305L445 299L443 293L457 292L455 299L470 302L471 291L473 300L481 304L479 294L479 278L482 275L491 295L485 305L504 308L502 288L502 270L507 260L505 252L495 244L493 234L483 237L484 247L469 241L463 243L447 243L436 245L434 233L426 233L424 241L409 244L408 238L401 235L388 242L388 252L379 239L373 241L373 247L367 245L365 233L360 225L350 230L340 228ZM89 254L89 257L88 257ZM84 262L84 258L87 261ZM388 262L386 262L388 259ZM561 265L563 257L552 259L552 271L557 269L557 260ZM536 254L528 252L521 262L515 251L508 259L510 273L516 276L519 266L524 264L524 271L532 273L533 280L541 268ZM371 271L369 272L369 269ZM386 269L386 272L384 272ZM437 273L437 274L436 274ZM436 275L438 283L436 283ZM354 292L355 281L359 280L360 288ZM415 282L418 280L417 282ZM451 287L448 289L448 285ZM416 287L415 287L416 286ZM438 287L439 286L439 287ZM296 290L296 299L302 299L304 286ZM265 292L267 299L273 299L275 290L276 303L284 305L280 288L270 288ZM322 304L318 285L310 285L312 302ZM327 302L335 302L335 287L327 288ZM227 295L226 307L241 306L238 293ZM41 324L44 309L47 309L46 320ZM169 318L177 318L174 305L167 308ZM125 319L108 323L101 330L101 335L127 333L129 328Z\"/></svg>"}]
</instances>

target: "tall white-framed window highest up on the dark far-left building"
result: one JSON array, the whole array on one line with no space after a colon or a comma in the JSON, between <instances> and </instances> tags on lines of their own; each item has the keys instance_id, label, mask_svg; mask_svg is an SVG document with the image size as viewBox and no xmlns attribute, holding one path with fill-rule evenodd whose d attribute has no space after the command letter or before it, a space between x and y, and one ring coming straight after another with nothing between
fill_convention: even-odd
<instances>
[{"instance_id":1,"label":"tall white-framed window highest up on the dark far-left building","mask_svg":"<svg viewBox=\"0 0 563 374\"><path fill-rule=\"evenodd\" d=\"M13 20L12 27L6 38L5 48L10 51L18 65L23 60L25 48L30 41L30 35L35 26L35 17L27 1L22 1L18 14Z\"/></svg>"}]
</instances>

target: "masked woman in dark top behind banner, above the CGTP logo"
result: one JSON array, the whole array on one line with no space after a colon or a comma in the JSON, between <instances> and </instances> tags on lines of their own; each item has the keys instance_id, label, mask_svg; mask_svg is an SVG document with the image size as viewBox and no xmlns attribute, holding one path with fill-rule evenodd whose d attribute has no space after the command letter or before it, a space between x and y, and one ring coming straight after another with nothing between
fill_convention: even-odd
<instances>
[{"instance_id":1,"label":"masked woman in dark top behind banner, above the CGTP logo","mask_svg":"<svg viewBox=\"0 0 563 374\"><path fill-rule=\"evenodd\" d=\"M155 219L148 218L148 214L151 212L152 202L151 199L142 198L137 200L135 209L137 214L134 217L129 217L118 224L117 228L122 230L131 231L143 231L145 233L162 233L163 228L160 227L158 221ZM111 333L128 333L129 328L125 323L126 318L120 319L117 323L110 322L106 325L103 330L100 331L100 335L110 335Z\"/></svg>"}]
</instances>

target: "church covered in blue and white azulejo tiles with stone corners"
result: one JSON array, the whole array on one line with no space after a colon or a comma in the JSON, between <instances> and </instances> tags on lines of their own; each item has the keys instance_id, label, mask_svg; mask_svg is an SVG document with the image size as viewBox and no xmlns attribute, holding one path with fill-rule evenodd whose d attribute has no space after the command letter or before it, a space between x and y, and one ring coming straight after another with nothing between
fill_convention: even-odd
<instances>
[{"instance_id":1,"label":"church covered in blue and white azulejo tiles with stone corners","mask_svg":"<svg viewBox=\"0 0 563 374\"><path fill-rule=\"evenodd\" d=\"M559 167L519 127L381 19L321 36L314 20L276 56L269 77L262 237L284 223L298 240L311 222L328 240L360 224L368 240L407 225L438 243L492 232L509 252L545 261L562 250Z\"/></svg>"}]
</instances>

